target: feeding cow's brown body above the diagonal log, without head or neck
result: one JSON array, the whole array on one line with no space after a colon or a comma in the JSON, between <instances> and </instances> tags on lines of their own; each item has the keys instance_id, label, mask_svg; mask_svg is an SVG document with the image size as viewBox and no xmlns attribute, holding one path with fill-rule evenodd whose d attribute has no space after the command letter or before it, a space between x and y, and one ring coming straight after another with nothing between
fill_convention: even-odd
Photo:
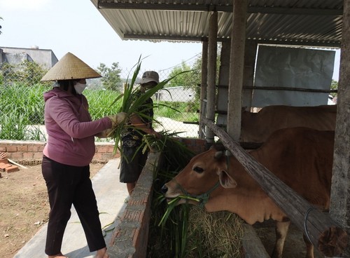
<instances>
[{"instance_id":1,"label":"feeding cow's brown body above the diagonal log, without head or neck","mask_svg":"<svg viewBox=\"0 0 350 258\"><path fill-rule=\"evenodd\" d=\"M333 147L334 131L287 128L251 155L307 201L329 208Z\"/></svg>"}]
</instances>

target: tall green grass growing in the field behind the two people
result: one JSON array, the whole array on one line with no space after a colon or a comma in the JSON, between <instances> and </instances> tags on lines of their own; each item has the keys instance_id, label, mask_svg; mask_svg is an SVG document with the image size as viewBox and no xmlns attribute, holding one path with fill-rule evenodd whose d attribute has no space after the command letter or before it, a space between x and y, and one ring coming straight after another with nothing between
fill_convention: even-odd
<instances>
[{"instance_id":1,"label":"tall green grass growing in the field behind the two people","mask_svg":"<svg viewBox=\"0 0 350 258\"><path fill-rule=\"evenodd\" d=\"M46 84L33 86L13 83L0 86L0 139L2 140L37 140L45 141L45 135L38 126L44 125L44 100L43 93L52 87ZM90 90L87 88L84 95L89 101L89 111L92 120L118 113L121 102L113 105L113 100L120 93L113 90ZM165 107L174 106L180 112ZM188 114L197 121L197 113L188 110L188 103L182 102L157 102L155 104L155 118L165 116L177 121L188 121Z\"/></svg>"}]
</instances>

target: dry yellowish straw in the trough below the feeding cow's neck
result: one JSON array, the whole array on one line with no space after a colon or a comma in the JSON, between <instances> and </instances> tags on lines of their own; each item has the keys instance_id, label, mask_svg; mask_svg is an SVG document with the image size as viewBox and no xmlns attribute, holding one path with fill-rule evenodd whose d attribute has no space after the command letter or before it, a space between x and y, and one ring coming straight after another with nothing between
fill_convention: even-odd
<instances>
[{"instance_id":1,"label":"dry yellowish straw in the trough below the feeding cow's neck","mask_svg":"<svg viewBox=\"0 0 350 258\"><path fill-rule=\"evenodd\" d=\"M209 213L198 206L191 206L188 236L188 258L243 257L242 220L232 212Z\"/></svg>"}]
</instances>

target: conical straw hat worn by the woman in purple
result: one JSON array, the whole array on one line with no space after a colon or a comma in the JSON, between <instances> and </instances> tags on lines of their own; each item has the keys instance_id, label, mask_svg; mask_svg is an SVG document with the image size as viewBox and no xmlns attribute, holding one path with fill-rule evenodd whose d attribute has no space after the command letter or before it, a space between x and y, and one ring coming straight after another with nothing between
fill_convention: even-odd
<instances>
[{"instance_id":1,"label":"conical straw hat worn by the woman in purple","mask_svg":"<svg viewBox=\"0 0 350 258\"><path fill-rule=\"evenodd\" d=\"M72 53L66 53L66 55L43 76L41 81L89 79L97 77L102 76Z\"/></svg>"}]
</instances>

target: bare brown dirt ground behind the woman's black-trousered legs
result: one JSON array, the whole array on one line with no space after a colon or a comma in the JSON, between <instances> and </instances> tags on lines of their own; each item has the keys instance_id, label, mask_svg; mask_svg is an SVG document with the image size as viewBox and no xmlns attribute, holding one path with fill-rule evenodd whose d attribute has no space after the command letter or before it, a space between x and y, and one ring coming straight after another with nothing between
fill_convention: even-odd
<instances>
[{"instance_id":1,"label":"bare brown dirt ground behind the woman's black-trousered legs","mask_svg":"<svg viewBox=\"0 0 350 258\"><path fill-rule=\"evenodd\" d=\"M103 166L100 163L91 164L91 177ZM12 258L48 221L50 207L41 165L26 168L10 173L1 172L1 258Z\"/></svg>"}]
</instances>

